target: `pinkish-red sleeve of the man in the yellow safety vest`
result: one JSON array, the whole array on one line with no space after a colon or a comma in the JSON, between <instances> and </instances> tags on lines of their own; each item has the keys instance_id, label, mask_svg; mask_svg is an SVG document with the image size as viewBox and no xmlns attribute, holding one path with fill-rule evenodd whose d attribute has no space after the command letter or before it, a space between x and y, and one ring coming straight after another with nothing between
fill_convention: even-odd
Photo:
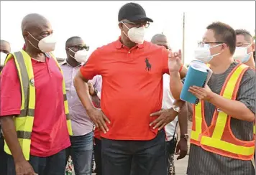
<instances>
[{"instance_id":1,"label":"pinkish-red sleeve of the man in the yellow safety vest","mask_svg":"<svg viewBox=\"0 0 256 175\"><path fill-rule=\"evenodd\" d=\"M4 66L0 80L0 116L19 115L21 92L17 68L14 59Z\"/></svg>"}]
</instances>

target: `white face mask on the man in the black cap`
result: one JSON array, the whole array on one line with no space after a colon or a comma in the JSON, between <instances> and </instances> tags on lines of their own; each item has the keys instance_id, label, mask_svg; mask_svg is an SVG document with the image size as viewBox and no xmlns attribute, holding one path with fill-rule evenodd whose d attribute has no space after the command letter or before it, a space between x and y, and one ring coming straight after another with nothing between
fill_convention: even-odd
<instances>
[{"instance_id":1,"label":"white face mask on the man in the black cap","mask_svg":"<svg viewBox=\"0 0 256 175\"><path fill-rule=\"evenodd\" d=\"M124 24L122 22L122 24ZM124 24L125 27L127 27L127 25ZM127 27L127 29L129 29ZM124 32L124 31L123 31ZM132 27L131 29L128 30L128 33L124 33L125 35L127 35L127 37L129 37L129 39L132 41L132 42L135 42L137 44L143 44L144 42L144 37L145 37L145 27L142 26L142 27Z\"/></svg>"}]
</instances>

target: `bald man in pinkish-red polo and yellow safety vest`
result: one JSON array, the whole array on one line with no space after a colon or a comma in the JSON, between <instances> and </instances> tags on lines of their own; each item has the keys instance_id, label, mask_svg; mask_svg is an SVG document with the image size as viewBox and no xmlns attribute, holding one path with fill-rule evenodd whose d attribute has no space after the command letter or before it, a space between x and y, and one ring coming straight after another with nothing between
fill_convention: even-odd
<instances>
[{"instance_id":1,"label":"bald man in pinkish-red polo and yellow safety vest","mask_svg":"<svg viewBox=\"0 0 256 175\"><path fill-rule=\"evenodd\" d=\"M23 49L6 57L1 73L7 175L63 175L72 130L63 73L51 53L52 27L44 16L28 14L22 35Z\"/></svg>"}]
</instances>

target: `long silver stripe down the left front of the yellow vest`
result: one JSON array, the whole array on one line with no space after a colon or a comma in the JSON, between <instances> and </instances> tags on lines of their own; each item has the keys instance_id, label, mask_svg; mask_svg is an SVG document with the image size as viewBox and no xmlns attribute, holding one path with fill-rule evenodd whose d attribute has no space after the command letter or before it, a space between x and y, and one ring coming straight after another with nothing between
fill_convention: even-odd
<instances>
[{"instance_id":1,"label":"long silver stripe down the left front of the yellow vest","mask_svg":"<svg viewBox=\"0 0 256 175\"><path fill-rule=\"evenodd\" d=\"M21 73L21 79L20 80L22 82L23 85L23 92L24 92L24 109L28 108L29 105L29 75L27 74L27 68L24 62L24 57L22 55L22 52L14 52L14 55L17 59L17 62L19 64L19 68L20 68L20 73ZM30 113L30 110L25 110L25 112ZM23 114L21 111L21 115L26 116L28 114ZM34 115L30 115L30 116L34 116Z\"/></svg>"}]
</instances>

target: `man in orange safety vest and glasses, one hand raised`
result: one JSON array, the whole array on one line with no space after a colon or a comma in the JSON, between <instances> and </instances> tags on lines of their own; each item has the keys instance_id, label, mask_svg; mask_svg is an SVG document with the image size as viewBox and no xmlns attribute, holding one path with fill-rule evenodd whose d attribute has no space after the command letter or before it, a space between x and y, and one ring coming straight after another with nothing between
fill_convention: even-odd
<instances>
[{"instance_id":1,"label":"man in orange safety vest and glasses, one hand raised","mask_svg":"<svg viewBox=\"0 0 256 175\"><path fill-rule=\"evenodd\" d=\"M195 56L209 64L213 75L206 87L189 88L199 102L193 106L187 174L255 174L255 70L234 61L232 27L214 22L206 29ZM170 80L181 84L177 78L180 56L170 55ZM178 90L170 91L179 95Z\"/></svg>"}]
</instances>

